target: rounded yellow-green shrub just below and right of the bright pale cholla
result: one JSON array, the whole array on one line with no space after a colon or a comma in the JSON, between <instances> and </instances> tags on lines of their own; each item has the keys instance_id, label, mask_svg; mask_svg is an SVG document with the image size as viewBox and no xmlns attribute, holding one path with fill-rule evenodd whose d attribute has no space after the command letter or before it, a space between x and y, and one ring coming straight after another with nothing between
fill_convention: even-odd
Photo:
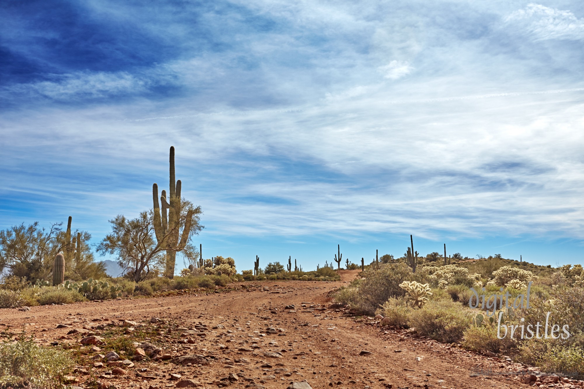
<instances>
[{"instance_id":1,"label":"rounded yellow-green shrub just below and right of the bright pale cholla","mask_svg":"<svg viewBox=\"0 0 584 389\"><path fill-rule=\"evenodd\" d=\"M471 313L454 302L431 301L422 309L412 310L408 325L439 342L459 342L471 325Z\"/></svg>"}]
</instances>

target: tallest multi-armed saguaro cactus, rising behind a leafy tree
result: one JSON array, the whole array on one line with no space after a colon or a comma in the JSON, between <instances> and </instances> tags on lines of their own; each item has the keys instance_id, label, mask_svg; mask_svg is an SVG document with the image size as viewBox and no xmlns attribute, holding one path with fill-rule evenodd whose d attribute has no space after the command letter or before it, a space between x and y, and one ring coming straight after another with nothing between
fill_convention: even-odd
<instances>
[{"instance_id":1,"label":"tallest multi-armed saguaro cactus, rising behind a leafy tree","mask_svg":"<svg viewBox=\"0 0 584 389\"><path fill-rule=\"evenodd\" d=\"M158 202L158 185L152 185L152 202L154 202L154 232L158 244L166 248L166 271L168 278L175 275L176 253L182 251L189 239L190 225L193 220L193 211L189 210L186 215L185 226L182 237L179 241L180 229L180 190L182 183L175 180L175 148L171 146L169 157L169 196L166 191L162 191L160 202ZM167 211L168 210L168 211ZM168 213L168 214L167 214Z\"/></svg>"}]
</instances>

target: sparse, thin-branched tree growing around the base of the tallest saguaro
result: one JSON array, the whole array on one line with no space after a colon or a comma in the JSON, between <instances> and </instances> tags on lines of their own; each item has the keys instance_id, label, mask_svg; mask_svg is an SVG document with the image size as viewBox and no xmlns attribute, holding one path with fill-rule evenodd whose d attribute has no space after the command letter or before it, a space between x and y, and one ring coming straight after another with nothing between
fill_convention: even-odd
<instances>
[{"instance_id":1,"label":"sparse, thin-branched tree growing around the base of the tallest saguaro","mask_svg":"<svg viewBox=\"0 0 584 389\"><path fill-rule=\"evenodd\" d=\"M178 246L171 250L182 252L189 262L194 262L200 254L191 240L192 236L203 228L199 225L201 209L194 208L185 199L180 202L180 207L178 223L184 224L186 219L190 218L190 229L187 230L186 235L183 234L183 239L180 240ZM112 225L112 233L107 234L96 247L100 255L117 255L117 262L135 282L142 281L152 271L160 269L168 271L166 266L169 246L166 241L173 231L167 231L161 236L161 241L158 241L155 233L155 214L152 210L140 212L138 218L131 220L118 215L109 222Z\"/></svg>"}]
</instances>

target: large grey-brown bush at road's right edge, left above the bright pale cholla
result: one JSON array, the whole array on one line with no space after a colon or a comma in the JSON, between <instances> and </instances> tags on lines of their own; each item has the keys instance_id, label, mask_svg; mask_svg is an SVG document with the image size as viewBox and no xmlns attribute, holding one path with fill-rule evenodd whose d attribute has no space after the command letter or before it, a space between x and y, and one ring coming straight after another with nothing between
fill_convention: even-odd
<instances>
[{"instance_id":1,"label":"large grey-brown bush at road's right edge, left above the bright pale cholla","mask_svg":"<svg viewBox=\"0 0 584 389\"><path fill-rule=\"evenodd\" d=\"M399 284L411 276L411 269L402 263L383 265L379 270L366 269L361 273L359 304L354 308L371 316L390 297L404 296L405 290Z\"/></svg>"}]
</instances>

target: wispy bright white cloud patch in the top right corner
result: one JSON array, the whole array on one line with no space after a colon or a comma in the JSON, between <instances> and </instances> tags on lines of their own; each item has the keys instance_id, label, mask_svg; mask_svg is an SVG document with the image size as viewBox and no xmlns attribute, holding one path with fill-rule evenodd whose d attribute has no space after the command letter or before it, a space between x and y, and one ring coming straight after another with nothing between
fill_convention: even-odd
<instances>
[{"instance_id":1,"label":"wispy bright white cloud patch in the top right corner","mask_svg":"<svg viewBox=\"0 0 584 389\"><path fill-rule=\"evenodd\" d=\"M507 26L536 40L584 39L584 19L578 19L569 10L549 8L530 3L505 18Z\"/></svg>"}]
</instances>

